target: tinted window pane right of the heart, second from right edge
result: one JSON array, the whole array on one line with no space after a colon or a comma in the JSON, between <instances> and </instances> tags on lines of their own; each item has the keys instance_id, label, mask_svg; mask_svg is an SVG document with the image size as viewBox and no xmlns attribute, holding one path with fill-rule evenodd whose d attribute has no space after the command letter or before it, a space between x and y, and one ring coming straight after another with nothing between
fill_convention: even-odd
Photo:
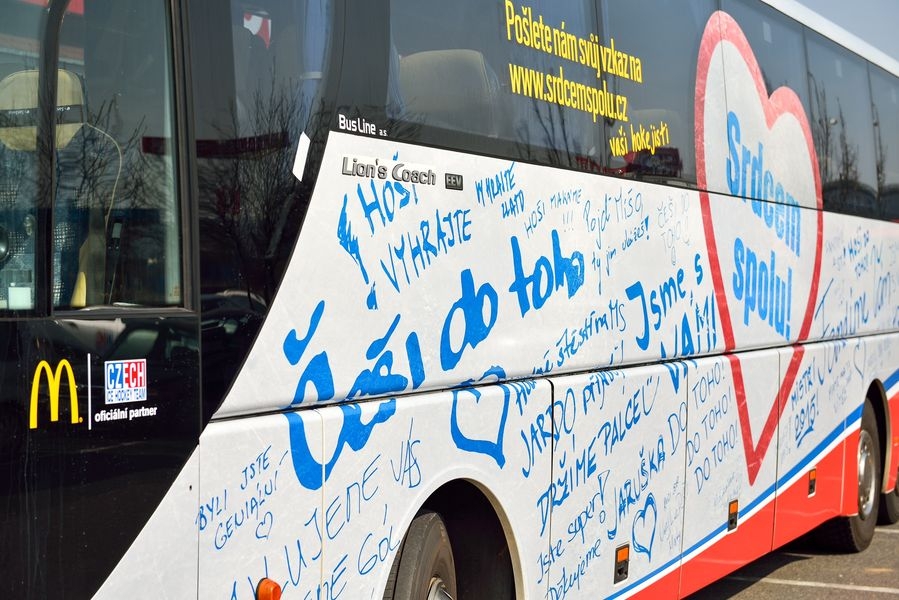
<instances>
[{"instance_id":1,"label":"tinted window pane right of the heart, second from right edge","mask_svg":"<svg viewBox=\"0 0 899 600\"><path fill-rule=\"evenodd\" d=\"M854 215L876 213L876 160L865 63L809 32L810 107L824 208Z\"/></svg>"}]
</instances>

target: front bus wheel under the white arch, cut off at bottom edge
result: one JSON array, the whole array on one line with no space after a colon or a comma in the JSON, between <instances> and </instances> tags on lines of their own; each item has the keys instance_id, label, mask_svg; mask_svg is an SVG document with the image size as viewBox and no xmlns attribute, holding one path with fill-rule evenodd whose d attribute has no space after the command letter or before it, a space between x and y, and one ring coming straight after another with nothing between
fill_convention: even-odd
<instances>
[{"instance_id":1,"label":"front bus wheel under the white arch, cut off at bottom edge","mask_svg":"<svg viewBox=\"0 0 899 600\"><path fill-rule=\"evenodd\" d=\"M456 567L443 519L422 511L409 525L397 552L384 600L453 600Z\"/></svg>"}]
</instances>

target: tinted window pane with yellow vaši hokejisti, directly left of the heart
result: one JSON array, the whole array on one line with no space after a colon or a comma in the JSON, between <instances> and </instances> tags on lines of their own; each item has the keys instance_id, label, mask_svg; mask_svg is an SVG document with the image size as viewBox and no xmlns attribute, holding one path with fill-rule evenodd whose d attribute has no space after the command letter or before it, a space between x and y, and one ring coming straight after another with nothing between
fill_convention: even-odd
<instances>
[{"instance_id":1,"label":"tinted window pane with yellow va\u0161i hokejisti, directly left of the heart","mask_svg":"<svg viewBox=\"0 0 899 600\"><path fill-rule=\"evenodd\" d=\"M654 180L696 182L693 110L696 56L711 0L612 1L603 4L604 39L642 63L642 81L615 78L627 120L609 123L609 167ZM648 131L647 137L641 132ZM615 143L616 139L622 143ZM648 143L646 143L648 141Z\"/></svg>"}]
</instances>

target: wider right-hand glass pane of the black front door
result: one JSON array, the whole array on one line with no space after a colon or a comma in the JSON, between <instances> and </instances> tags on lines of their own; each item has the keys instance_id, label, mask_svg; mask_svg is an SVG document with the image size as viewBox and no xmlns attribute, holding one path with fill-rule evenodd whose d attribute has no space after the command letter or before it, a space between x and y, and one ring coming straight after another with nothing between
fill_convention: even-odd
<instances>
[{"instance_id":1,"label":"wider right-hand glass pane of the black front door","mask_svg":"<svg viewBox=\"0 0 899 600\"><path fill-rule=\"evenodd\" d=\"M53 304L179 305L166 5L94 0L83 11L83 23L63 22L83 48L71 75L83 122L57 147Z\"/></svg>"}]
</instances>

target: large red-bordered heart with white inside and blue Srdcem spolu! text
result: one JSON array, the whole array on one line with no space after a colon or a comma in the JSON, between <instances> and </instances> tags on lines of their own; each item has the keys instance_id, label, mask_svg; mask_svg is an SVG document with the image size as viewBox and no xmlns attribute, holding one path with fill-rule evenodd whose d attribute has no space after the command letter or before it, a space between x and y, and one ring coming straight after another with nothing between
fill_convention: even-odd
<instances>
[{"instance_id":1,"label":"large red-bordered heart with white inside and blue Srdcem spolu! text","mask_svg":"<svg viewBox=\"0 0 899 600\"><path fill-rule=\"evenodd\" d=\"M697 183L725 351L770 344L772 334L802 342L811 329L821 272L823 214L814 140L799 97L785 87L768 96L749 42L721 11L703 33L694 108ZM708 189L730 190L735 197L712 198ZM730 249L733 261L726 264ZM750 485L786 405L778 399L792 389L803 354L801 345L792 347L758 442L740 357L727 355Z\"/></svg>"}]
</instances>

